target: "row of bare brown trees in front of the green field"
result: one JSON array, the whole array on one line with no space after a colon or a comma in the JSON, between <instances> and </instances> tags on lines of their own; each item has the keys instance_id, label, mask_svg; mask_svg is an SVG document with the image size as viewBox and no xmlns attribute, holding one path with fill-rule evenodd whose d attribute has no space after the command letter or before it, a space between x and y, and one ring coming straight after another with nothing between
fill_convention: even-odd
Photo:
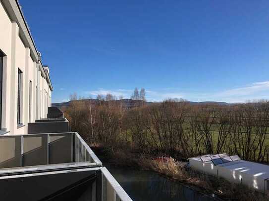
<instances>
[{"instance_id":1,"label":"row of bare brown trees in front of the green field","mask_svg":"<svg viewBox=\"0 0 269 201\"><path fill-rule=\"evenodd\" d=\"M268 160L268 102L199 105L168 99L126 109L110 95L98 101L75 99L63 109L65 117L71 130L93 145L176 159L227 153Z\"/></svg>"}]
</instances>

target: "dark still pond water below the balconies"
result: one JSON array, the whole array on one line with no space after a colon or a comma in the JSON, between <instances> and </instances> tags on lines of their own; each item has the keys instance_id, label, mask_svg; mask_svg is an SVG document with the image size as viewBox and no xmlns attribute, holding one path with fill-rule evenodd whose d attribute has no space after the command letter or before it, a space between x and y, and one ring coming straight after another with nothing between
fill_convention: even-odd
<instances>
[{"instance_id":1,"label":"dark still pond water below the balconies","mask_svg":"<svg viewBox=\"0 0 269 201\"><path fill-rule=\"evenodd\" d=\"M215 201L213 197L173 182L151 171L103 164L133 201Z\"/></svg>"}]
</instances>

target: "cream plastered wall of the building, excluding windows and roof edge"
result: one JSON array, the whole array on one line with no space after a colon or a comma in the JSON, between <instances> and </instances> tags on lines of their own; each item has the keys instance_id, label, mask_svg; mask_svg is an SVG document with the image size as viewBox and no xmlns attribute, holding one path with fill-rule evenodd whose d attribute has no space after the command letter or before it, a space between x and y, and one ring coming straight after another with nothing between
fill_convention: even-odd
<instances>
[{"instance_id":1,"label":"cream plastered wall of the building, excluding windows and roof edge","mask_svg":"<svg viewBox=\"0 0 269 201\"><path fill-rule=\"evenodd\" d=\"M22 39L23 30L19 22L12 21L0 0L0 51L3 57L2 122L0 134L27 134L27 123L46 118L51 105L51 88L46 80L42 63L33 58L33 52ZM22 71L21 81L21 124L17 124L18 69ZM43 71L43 72L42 72ZM29 85L32 82L31 97ZM37 93L37 94L36 94ZM31 98L31 114L29 100Z\"/></svg>"}]
</instances>

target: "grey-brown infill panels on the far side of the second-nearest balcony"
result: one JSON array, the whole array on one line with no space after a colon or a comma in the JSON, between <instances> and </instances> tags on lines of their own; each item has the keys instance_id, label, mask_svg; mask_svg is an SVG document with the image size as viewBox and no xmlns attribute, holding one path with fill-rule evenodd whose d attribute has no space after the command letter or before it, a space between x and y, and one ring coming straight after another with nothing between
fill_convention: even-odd
<instances>
[{"instance_id":1,"label":"grey-brown infill panels on the far side of the second-nearest balcony","mask_svg":"<svg viewBox=\"0 0 269 201\"><path fill-rule=\"evenodd\" d=\"M0 137L0 168L74 161L72 134L24 136L23 146L21 139L21 136Z\"/></svg>"}]
</instances>

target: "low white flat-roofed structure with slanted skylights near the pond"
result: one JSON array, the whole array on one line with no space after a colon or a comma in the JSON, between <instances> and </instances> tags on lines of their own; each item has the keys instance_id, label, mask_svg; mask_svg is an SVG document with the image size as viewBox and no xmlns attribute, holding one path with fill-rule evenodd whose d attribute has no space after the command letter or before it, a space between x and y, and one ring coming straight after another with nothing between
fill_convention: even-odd
<instances>
[{"instance_id":1,"label":"low white flat-roofed structure with slanted skylights near the pond","mask_svg":"<svg viewBox=\"0 0 269 201\"><path fill-rule=\"evenodd\" d=\"M263 193L269 190L269 165L243 161L238 156L227 154L205 155L188 160L190 167L204 173L247 185Z\"/></svg>"}]
</instances>

